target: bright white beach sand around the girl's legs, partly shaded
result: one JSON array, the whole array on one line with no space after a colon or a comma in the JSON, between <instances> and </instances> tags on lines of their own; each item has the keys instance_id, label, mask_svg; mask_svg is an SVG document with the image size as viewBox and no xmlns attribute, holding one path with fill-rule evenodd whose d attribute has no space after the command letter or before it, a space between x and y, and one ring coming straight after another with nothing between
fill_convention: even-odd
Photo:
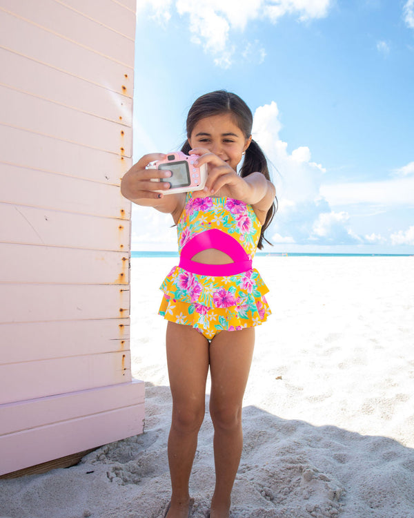
<instances>
[{"instance_id":1,"label":"bright white beach sand around the girl's legs, partly shaded","mask_svg":"<svg viewBox=\"0 0 414 518\"><path fill-rule=\"evenodd\" d=\"M144 434L72 468L0 481L1 516L162 516L171 401L157 288L174 264L132 260ZM257 328L232 517L414 518L414 258L257 258L255 266L273 316ZM208 511L212 438L206 414L193 517Z\"/></svg>"}]
</instances>

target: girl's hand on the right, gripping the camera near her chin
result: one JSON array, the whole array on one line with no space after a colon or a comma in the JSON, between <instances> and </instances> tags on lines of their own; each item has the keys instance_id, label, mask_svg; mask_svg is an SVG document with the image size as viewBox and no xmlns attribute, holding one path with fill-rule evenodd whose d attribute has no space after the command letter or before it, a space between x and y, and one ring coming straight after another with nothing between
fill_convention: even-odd
<instances>
[{"instance_id":1,"label":"girl's hand on the right, gripping the camera near her chin","mask_svg":"<svg viewBox=\"0 0 414 518\"><path fill-rule=\"evenodd\" d=\"M208 177L203 191L194 191L193 198L206 198L220 191L221 195L242 200L246 195L248 185L237 172L224 160L211 153L206 148L194 148L190 155L200 155L195 162L197 167L207 164Z\"/></svg>"}]
</instances>

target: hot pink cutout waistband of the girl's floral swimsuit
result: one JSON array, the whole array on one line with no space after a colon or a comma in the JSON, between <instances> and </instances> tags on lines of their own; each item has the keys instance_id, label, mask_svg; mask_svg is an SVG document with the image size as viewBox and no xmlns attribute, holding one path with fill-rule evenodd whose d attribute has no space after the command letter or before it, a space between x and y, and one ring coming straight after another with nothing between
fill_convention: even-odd
<instances>
[{"instance_id":1,"label":"hot pink cutout waistband of the girl's floral swimsuit","mask_svg":"<svg viewBox=\"0 0 414 518\"><path fill-rule=\"evenodd\" d=\"M225 265L205 265L203 262L192 260L196 253L207 249L222 251L234 262ZM190 271L192 274L225 277L250 270L252 261L249 259L246 250L235 238L219 229L210 229L200 232L184 244L181 249L179 267Z\"/></svg>"}]
</instances>

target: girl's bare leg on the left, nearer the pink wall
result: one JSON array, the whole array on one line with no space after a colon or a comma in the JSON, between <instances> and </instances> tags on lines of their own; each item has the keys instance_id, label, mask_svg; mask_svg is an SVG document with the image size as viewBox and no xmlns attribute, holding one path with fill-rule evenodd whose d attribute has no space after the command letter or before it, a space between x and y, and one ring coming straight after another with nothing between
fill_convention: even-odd
<instances>
[{"instance_id":1,"label":"girl's bare leg on the left, nearer the pink wall","mask_svg":"<svg viewBox=\"0 0 414 518\"><path fill-rule=\"evenodd\" d=\"M172 394L168 463L172 486L168 518L188 516L188 480L204 419L208 340L193 327L168 322L167 362Z\"/></svg>"}]
</instances>

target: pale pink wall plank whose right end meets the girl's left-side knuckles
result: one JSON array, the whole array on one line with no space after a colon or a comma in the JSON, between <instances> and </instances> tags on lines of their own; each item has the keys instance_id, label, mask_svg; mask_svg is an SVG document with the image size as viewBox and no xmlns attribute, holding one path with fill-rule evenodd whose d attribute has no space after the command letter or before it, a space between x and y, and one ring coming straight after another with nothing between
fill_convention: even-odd
<instances>
[{"instance_id":1,"label":"pale pink wall plank whose right end meets the girl's left-side knuckles","mask_svg":"<svg viewBox=\"0 0 414 518\"><path fill-rule=\"evenodd\" d=\"M119 153L86 148L10 126L0 125L0 142L0 160L4 163L103 184L119 186L132 166L132 160Z\"/></svg>"}]
</instances>

